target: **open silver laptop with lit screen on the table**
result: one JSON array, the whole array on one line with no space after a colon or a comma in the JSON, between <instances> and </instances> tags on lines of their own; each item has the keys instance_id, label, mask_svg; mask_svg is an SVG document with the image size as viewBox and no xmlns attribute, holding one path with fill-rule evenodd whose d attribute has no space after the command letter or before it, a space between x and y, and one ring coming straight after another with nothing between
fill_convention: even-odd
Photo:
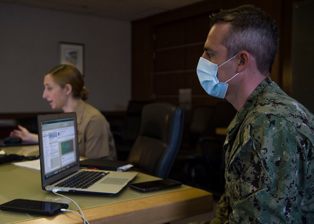
<instances>
[{"instance_id":1,"label":"open silver laptop with lit screen on the table","mask_svg":"<svg viewBox=\"0 0 314 224\"><path fill-rule=\"evenodd\" d=\"M75 112L38 115L37 121L42 189L116 194L138 174L80 169ZM78 184L77 176L80 175L91 175L89 180L95 183L85 181ZM70 178L72 178L70 181L65 181Z\"/></svg>"}]
</instances>

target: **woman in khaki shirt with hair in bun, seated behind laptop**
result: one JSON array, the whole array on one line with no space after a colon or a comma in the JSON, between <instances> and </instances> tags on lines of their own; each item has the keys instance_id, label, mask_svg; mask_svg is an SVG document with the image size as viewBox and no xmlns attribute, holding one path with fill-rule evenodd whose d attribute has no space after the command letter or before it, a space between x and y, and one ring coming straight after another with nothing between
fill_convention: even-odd
<instances>
[{"instance_id":1,"label":"woman in khaki shirt with hair in bun, seated behind laptop","mask_svg":"<svg viewBox=\"0 0 314 224\"><path fill-rule=\"evenodd\" d=\"M58 65L46 72L44 86L42 97L49 102L52 109L76 112L80 156L116 160L110 124L98 109L84 102L88 97L88 90L78 69L72 65ZM12 131L10 136L18 136L22 141L38 142L38 135L20 125L19 130Z\"/></svg>"}]
</instances>

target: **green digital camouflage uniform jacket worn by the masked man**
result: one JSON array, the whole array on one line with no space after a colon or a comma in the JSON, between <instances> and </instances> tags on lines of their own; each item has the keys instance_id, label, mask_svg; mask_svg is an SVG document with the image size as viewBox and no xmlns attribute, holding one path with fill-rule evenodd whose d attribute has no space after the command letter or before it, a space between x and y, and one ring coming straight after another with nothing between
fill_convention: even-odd
<instances>
[{"instance_id":1,"label":"green digital camouflage uniform jacket worn by the masked man","mask_svg":"<svg viewBox=\"0 0 314 224\"><path fill-rule=\"evenodd\" d=\"M314 116L266 78L230 123L217 223L314 223Z\"/></svg>"}]
</instances>

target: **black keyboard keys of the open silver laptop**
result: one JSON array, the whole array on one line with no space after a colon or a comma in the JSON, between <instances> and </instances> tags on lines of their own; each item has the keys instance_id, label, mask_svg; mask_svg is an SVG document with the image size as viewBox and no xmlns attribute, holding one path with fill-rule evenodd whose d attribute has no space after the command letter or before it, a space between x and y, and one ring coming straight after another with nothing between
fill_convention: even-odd
<instances>
[{"instance_id":1,"label":"black keyboard keys of the open silver laptop","mask_svg":"<svg viewBox=\"0 0 314 224\"><path fill-rule=\"evenodd\" d=\"M95 184L98 180L106 176L106 172L82 171L75 176L62 181L55 187L82 188L86 189Z\"/></svg>"}]
</instances>

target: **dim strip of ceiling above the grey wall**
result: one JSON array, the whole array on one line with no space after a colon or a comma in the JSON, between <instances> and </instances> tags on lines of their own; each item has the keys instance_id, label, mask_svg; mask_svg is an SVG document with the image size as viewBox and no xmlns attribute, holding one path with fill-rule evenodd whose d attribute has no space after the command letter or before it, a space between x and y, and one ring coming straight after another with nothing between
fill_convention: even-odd
<instances>
[{"instance_id":1,"label":"dim strip of ceiling above the grey wall","mask_svg":"<svg viewBox=\"0 0 314 224\"><path fill-rule=\"evenodd\" d=\"M204 0L0 0L31 7L133 21Z\"/></svg>"}]
</instances>

